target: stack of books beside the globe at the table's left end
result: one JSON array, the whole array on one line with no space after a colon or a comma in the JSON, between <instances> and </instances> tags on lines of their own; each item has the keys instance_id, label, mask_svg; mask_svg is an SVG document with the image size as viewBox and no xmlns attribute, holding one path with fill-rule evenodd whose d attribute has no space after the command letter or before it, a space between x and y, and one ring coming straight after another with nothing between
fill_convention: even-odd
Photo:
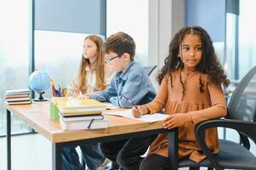
<instances>
[{"instance_id":1,"label":"stack of books beside the globe at the table's left end","mask_svg":"<svg viewBox=\"0 0 256 170\"><path fill-rule=\"evenodd\" d=\"M4 99L9 105L31 104L31 90L28 88L7 90Z\"/></svg>"}]
</instances>

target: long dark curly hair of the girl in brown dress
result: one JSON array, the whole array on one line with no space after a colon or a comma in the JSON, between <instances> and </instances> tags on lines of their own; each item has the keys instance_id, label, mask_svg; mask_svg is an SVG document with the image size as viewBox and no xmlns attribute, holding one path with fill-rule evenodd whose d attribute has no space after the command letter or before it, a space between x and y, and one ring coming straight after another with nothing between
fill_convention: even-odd
<instances>
[{"instance_id":1,"label":"long dark curly hair of the girl in brown dress","mask_svg":"<svg viewBox=\"0 0 256 170\"><path fill-rule=\"evenodd\" d=\"M183 67L183 62L180 57L178 57L178 54L183 38L187 34L198 35L201 37L202 59L196 66L196 69L207 74L212 82L228 85L229 80L226 78L224 70L214 52L213 42L208 35L208 32L200 26L185 26L175 34L173 40L169 44L169 54L168 57L164 59L164 66L162 67L161 73L156 77L157 82L161 84L162 78L166 74L170 74L172 82L173 77L171 72Z\"/></svg>"}]
</instances>

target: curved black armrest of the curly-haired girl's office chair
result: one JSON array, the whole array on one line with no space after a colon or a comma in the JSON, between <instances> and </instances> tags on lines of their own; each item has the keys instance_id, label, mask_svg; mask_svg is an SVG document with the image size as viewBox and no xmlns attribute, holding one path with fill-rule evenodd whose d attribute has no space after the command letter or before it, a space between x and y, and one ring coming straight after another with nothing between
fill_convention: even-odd
<instances>
[{"instance_id":1,"label":"curved black armrest of the curly-haired girl's office chair","mask_svg":"<svg viewBox=\"0 0 256 170\"><path fill-rule=\"evenodd\" d=\"M209 120L206 122L199 123L195 128L196 140L202 148L202 152L208 157L208 160L213 164L213 167L217 170L223 169L219 163L214 159L213 153L208 149L207 144L204 141L204 132L206 129L211 127L229 127L236 129L239 133L242 133L245 136L249 136L253 139L253 142L256 141L256 123L255 122L242 122L238 120L231 119L217 119Z\"/></svg>"}]
</instances>

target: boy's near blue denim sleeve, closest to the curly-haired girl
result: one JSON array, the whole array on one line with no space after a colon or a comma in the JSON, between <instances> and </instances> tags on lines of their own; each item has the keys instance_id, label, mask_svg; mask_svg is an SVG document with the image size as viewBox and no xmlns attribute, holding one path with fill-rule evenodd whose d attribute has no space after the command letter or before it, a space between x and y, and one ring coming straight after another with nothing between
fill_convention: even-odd
<instances>
[{"instance_id":1,"label":"boy's near blue denim sleeve, closest to the curly-haired girl","mask_svg":"<svg viewBox=\"0 0 256 170\"><path fill-rule=\"evenodd\" d=\"M132 75L128 77L127 82L125 82L122 88L122 95L111 97L110 101L112 104L118 105L121 108L131 108L133 105L128 102L128 99L130 99L134 105L138 105L148 91L149 82L145 80L145 77ZM125 99L123 95L128 99Z\"/></svg>"}]
</instances>

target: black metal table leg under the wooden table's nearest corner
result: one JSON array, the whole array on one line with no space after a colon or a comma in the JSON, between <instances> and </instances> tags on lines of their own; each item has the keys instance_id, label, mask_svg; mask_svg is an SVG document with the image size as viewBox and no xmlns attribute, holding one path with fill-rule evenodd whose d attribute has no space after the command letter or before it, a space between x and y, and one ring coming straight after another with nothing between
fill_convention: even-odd
<instances>
[{"instance_id":1,"label":"black metal table leg under the wooden table's nearest corner","mask_svg":"<svg viewBox=\"0 0 256 170\"><path fill-rule=\"evenodd\" d=\"M61 170L61 150L60 144L52 144L52 166L53 170Z\"/></svg>"}]
</instances>

